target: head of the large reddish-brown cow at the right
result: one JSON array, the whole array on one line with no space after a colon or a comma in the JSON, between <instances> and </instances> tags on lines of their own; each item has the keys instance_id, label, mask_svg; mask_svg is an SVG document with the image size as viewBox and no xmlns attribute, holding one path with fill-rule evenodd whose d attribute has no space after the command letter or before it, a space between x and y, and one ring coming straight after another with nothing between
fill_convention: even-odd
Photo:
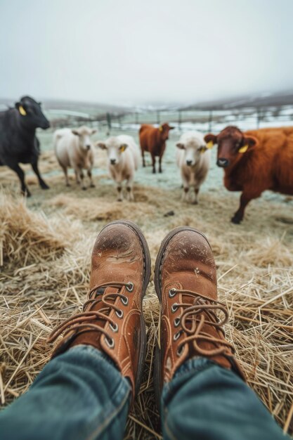
<instances>
[{"instance_id":1,"label":"head of the large reddish-brown cow at the right","mask_svg":"<svg viewBox=\"0 0 293 440\"><path fill-rule=\"evenodd\" d=\"M216 164L218 167L227 168L241 160L243 155L256 145L256 138L245 136L237 127L226 127L217 136L207 134L204 136L207 147L211 148L218 144L218 155Z\"/></svg>"}]
</instances>

